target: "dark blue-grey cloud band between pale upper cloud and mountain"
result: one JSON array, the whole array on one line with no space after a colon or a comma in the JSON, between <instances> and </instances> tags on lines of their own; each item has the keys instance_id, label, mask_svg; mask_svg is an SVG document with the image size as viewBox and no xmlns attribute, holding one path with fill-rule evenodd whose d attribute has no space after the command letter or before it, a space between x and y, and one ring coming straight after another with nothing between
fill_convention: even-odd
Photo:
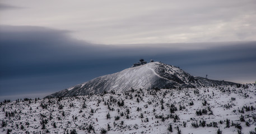
<instances>
[{"instance_id":1,"label":"dark blue-grey cloud band between pale upper cloud and mountain","mask_svg":"<svg viewBox=\"0 0 256 134\"><path fill-rule=\"evenodd\" d=\"M256 42L100 45L69 31L0 26L0 98L52 93L129 68L139 58L180 66L192 75L246 83L256 80ZM17 96L16 96L17 97Z\"/></svg>"}]
</instances>

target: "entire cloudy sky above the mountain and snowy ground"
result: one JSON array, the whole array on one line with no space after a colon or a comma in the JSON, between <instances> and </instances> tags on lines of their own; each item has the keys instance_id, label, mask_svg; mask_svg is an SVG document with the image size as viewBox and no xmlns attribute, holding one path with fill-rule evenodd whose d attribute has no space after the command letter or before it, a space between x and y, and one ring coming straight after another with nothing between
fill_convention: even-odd
<instances>
[{"instance_id":1,"label":"entire cloudy sky above the mountain and snowy ground","mask_svg":"<svg viewBox=\"0 0 256 134\"><path fill-rule=\"evenodd\" d=\"M138 59L256 80L256 1L0 1L0 101L44 97Z\"/></svg>"}]
</instances>

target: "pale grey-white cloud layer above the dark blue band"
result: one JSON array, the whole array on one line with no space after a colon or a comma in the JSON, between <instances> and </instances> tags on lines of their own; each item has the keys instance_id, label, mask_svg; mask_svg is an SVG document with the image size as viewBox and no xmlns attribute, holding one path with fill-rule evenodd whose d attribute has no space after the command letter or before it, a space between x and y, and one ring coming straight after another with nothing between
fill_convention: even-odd
<instances>
[{"instance_id":1,"label":"pale grey-white cloud layer above the dark blue band","mask_svg":"<svg viewBox=\"0 0 256 134\"><path fill-rule=\"evenodd\" d=\"M255 0L34 1L3 0L22 10L1 13L2 25L73 31L101 44L252 41Z\"/></svg>"}]
</instances>

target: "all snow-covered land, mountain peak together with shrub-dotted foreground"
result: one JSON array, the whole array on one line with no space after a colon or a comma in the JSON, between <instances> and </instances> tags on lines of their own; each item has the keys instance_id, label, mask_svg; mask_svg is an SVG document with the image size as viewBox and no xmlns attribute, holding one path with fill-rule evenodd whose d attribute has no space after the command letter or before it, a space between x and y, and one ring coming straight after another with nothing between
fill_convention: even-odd
<instances>
[{"instance_id":1,"label":"all snow-covered land, mountain peak together with shrub-dotted foreground","mask_svg":"<svg viewBox=\"0 0 256 134\"><path fill-rule=\"evenodd\" d=\"M256 134L255 100L256 84L194 77L154 62L43 99L1 102L0 133Z\"/></svg>"}]
</instances>

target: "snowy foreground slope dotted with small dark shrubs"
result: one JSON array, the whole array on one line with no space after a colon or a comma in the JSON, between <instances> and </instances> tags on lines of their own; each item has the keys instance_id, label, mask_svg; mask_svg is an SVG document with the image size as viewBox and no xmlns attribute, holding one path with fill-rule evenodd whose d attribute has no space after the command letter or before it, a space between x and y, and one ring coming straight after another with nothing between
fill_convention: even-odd
<instances>
[{"instance_id":1,"label":"snowy foreground slope dotted with small dark shrubs","mask_svg":"<svg viewBox=\"0 0 256 134\"><path fill-rule=\"evenodd\" d=\"M255 108L255 84L24 99L1 103L0 133L256 133Z\"/></svg>"}]
</instances>

